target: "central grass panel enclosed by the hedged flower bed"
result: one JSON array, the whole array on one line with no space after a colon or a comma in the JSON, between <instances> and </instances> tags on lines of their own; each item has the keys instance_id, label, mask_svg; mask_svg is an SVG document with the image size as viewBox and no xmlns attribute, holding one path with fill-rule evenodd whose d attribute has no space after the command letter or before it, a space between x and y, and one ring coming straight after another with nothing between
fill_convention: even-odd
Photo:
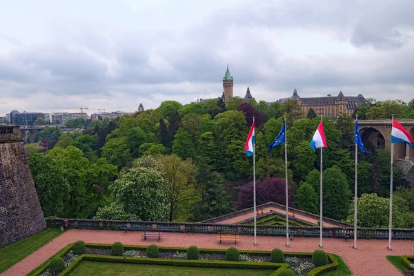
<instances>
[{"instance_id":1,"label":"central grass panel enclosed by the hedged flower bed","mask_svg":"<svg viewBox=\"0 0 414 276\"><path fill-rule=\"evenodd\" d=\"M273 269L243 268L195 268L187 266L160 266L153 264L120 264L104 262L81 262L70 276L77 275L146 275L146 276L270 276Z\"/></svg>"}]
</instances>

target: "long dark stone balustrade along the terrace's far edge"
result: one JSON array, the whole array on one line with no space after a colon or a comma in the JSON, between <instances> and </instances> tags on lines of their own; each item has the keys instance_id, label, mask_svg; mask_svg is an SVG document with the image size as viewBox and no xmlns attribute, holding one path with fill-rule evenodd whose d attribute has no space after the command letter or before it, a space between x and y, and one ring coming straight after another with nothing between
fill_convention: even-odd
<instances>
[{"instance_id":1,"label":"long dark stone balustrade along the terrace's far edge","mask_svg":"<svg viewBox=\"0 0 414 276\"><path fill-rule=\"evenodd\" d=\"M172 233L239 233L253 235L254 226L246 224L204 224L189 222L116 221L98 219L46 219L49 228L77 228L92 230L158 230ZM286 236L286 226L257 225L257 235ZM353 237L353 228L323 227L323 237L348 239ZM319 226L290 226L290 237L319 237ZM359 239L388 239L388 228L357 228ZM394 228L393 239L414 239L414 229Z\"/></svg>"}]
</instances>

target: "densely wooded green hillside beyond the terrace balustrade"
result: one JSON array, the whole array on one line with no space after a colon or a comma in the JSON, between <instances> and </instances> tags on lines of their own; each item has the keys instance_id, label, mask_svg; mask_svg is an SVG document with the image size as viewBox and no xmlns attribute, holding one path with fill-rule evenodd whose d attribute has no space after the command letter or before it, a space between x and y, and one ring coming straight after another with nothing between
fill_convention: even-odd
<instances>
[{"instance_id":1,"label":"densely wooded green hillside beyond the terrace balustrade","mask_svg":"<svg viewBox=\"0 0 414 276\"><path fill-rule=\"evenodd\" d=\"M407 107L371 100L357 109L360 117L371 117L374 112L410 117L414 100ZM309 142L320 118L315 112L304 117L297 101L280 106L265 101L243 103L238 97L226 105L214 99L186 105L164 101L155 110L116 120L86 121L83 132L46 128L36 144L26 145L43 213L46 217L201 221L252 206L252 184L242 186L232 199L224 183L235 186L253 178L253 157L244 152L253 117L257 204L285 203L284 146L270 153L268 145L286 117L289 200L297 208L319 213L319 151L313 152ZM344 220L353 214L353 118L342 116L334 122L324 117L324 131L328 144L324 150L324 215ZM368 142L365 146L371 153L359 153L358 197L375 193L386 198L390 152L375 150ZM398 170L394 186L395 212L401 217L396 223L412 227L414 190ZM375 200L366 198L368 203ZM361 226L380 225L361 222Z\"/></svg>"}]
</instances>

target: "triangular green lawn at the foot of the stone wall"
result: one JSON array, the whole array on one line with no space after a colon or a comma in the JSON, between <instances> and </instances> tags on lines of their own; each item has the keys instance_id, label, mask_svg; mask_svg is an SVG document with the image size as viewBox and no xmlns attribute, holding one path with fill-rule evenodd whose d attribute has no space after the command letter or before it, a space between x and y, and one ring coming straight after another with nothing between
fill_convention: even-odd
<instances>
[{"instance_id":1,"label":"triangular green lawn at the foot of the stone wall","mask_svg":"<svg viewBox=\"0 0 414 276\"><path fill-rule=\"evenodd\" d=\"M27 239L22 239L19 242L10 244L5 248L0 249L0 273L2 273L7 268L10 268L13 264L20 262L27 255L30 255L37 249L41 248L55 237L59 236L61 230L59 229L48 229L43 232L28 237Z\"/></svg>"}]
</instances>

